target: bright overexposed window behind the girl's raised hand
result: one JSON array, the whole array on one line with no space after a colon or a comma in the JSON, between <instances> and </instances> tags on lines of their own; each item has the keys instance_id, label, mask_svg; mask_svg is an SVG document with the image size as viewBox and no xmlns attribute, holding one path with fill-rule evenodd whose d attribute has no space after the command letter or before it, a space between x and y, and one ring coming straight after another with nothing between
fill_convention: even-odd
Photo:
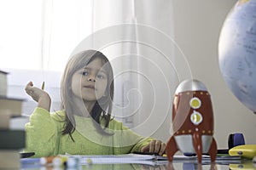
<instances>
[{"instance_id":1,"label":"bright overexposed window behind the girl's raised hand","mask_svg":"<svg viewBox=\"0 0 256 170\"><path fill-rule=\"evenodd\" d=\"M45 81L52 97L52 110L60 102L61 71L79 42L92 30L89 0L1 0L0 69L8 71L8 95L26 98L23 113L36 103L25 94L33 81Z\"/></svg>"}]
</instances>

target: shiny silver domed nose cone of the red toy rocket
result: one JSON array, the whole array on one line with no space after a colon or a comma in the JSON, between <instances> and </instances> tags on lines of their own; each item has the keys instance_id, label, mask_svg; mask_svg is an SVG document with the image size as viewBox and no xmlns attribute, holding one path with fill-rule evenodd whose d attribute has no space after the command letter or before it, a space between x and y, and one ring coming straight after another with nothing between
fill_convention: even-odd
<instances>
[{"instance_id":1,"label":"shiny silver domed nose cone of the red toy rocket","mask_svg":"<svg viewBox=\"0 0 256 170\"><path fill-rule=\"evenodd\" d=\"M204 83L199 80L189 79L181 82L175 91L175 94L186 92L186 91L208 91Z\"/></svg>"}]
</instances>

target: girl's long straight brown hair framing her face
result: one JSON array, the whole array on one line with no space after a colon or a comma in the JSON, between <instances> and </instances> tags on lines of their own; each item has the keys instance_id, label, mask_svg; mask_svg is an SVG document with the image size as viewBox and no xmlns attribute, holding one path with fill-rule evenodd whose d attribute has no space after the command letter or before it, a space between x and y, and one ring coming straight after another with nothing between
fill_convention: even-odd
<instances>
[{"instance_id":1,"label":"girl's long straight brown hair framing her face","mask_svg":"<svg viewBox=\"0 0 256 170\"><path fill-rule=\"evenodd\" d=\"M73 114L74 112L79 111L76 107L76 105L79 104L73 102L73 92L71 88L72 77L74 72L83 69L96 58L102 59L103 67L108 74L108 85L105 95L96 101L96 104L90 112L90 116L94 120L94 125L99 133L109 134L105 132L104 129L108 127L108 124L111 120L111 112L113 107L113 68L109 63L108 58L104 54L99 51L90 49L82 51L79 54L74 54L73 57L69 59L61 79L61 110L66 112L62 134L69 134L71 139L73 139L72 133L76 128L76 122L74 120ZM81 101L82 100L83 99L81 99ZM83 113L79 114L83 115ZM104 122L103 125L102 122Z\"/></svg>"}]
</instances>

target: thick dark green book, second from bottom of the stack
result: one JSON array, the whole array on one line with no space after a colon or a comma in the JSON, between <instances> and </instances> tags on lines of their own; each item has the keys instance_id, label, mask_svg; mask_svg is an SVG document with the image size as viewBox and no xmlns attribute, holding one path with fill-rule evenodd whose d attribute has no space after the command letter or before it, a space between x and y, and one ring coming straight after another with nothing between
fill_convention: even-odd
<instances>
[{"instance_id":1,"label":"thick dark green book, second from bottom of the stack","mask_svg":"<svg viewBox=\"0 0 256 170\"><path fill-rule=\"evenodd\" d=\"M25 130L0 130L0 150L20 150L26 146Z\"/></svg>"}]
</instances>

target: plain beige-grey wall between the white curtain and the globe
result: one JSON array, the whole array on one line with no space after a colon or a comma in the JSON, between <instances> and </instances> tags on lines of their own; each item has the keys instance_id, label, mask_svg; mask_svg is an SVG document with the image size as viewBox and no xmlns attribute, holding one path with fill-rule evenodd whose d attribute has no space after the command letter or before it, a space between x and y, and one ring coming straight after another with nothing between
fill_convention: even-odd
<instances>
[{"instance_id":1,"label":"plain beige-grey wall between the white curtain and the globe","mask_svg":"<svg viewBox=\"0 0 256 170\"><path fill-rule=\"evenodd\" d=\"M173 0L175 40L186 55L194 78L212 95L215 139L227 148L228 135L241 132L256 144L256 115L227 88L218 66L218 37L236 0Z\"/></svg>"}]
</instances>

